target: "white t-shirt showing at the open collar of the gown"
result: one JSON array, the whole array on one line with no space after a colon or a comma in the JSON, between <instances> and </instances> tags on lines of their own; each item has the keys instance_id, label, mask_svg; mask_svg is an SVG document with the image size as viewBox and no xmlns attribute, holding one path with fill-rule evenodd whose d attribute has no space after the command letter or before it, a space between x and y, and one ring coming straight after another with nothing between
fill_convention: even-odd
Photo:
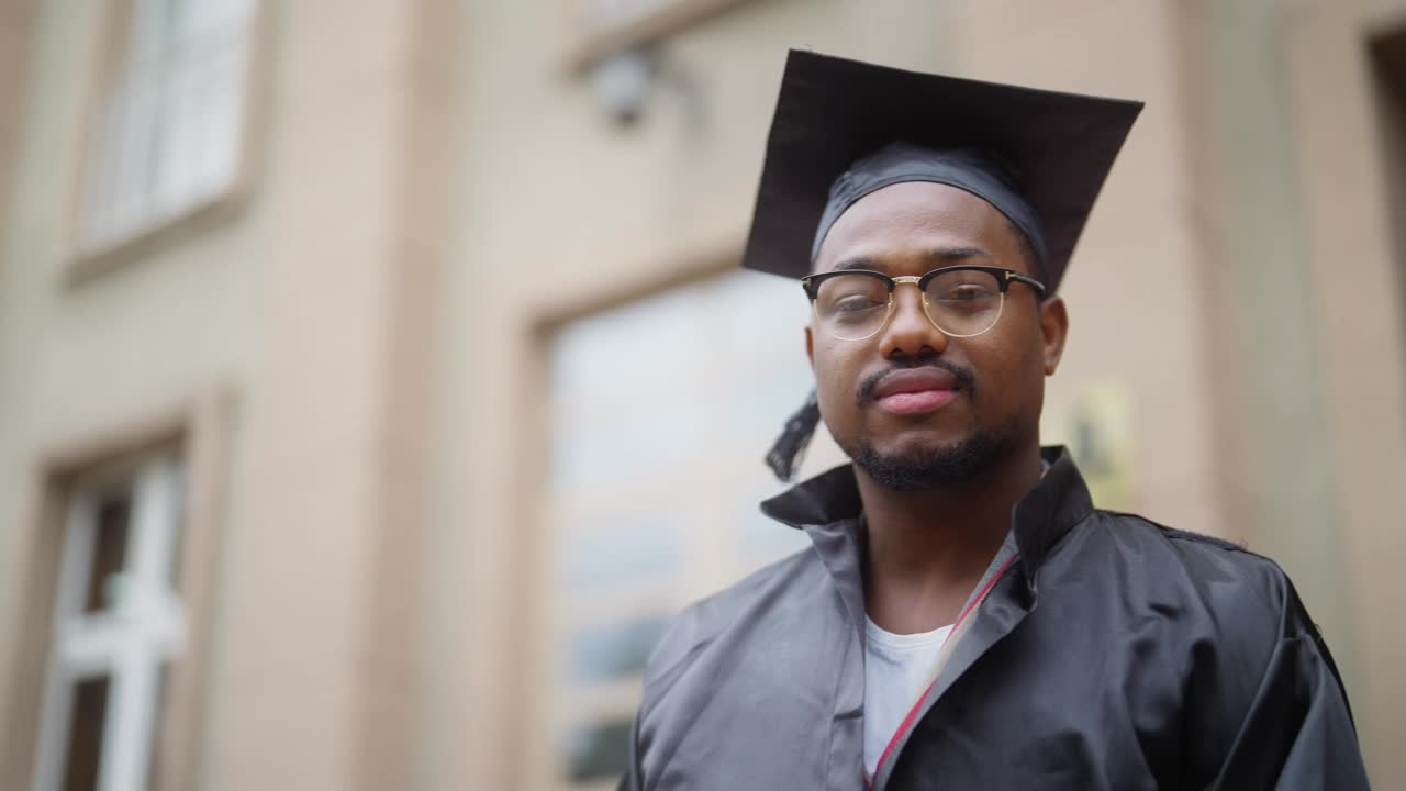
<instances>
[{"instance_id":1,"label":"white t-shirt showing at the open collar of the gown","mask_svg":"<svg viewBox=\"0 0 1406 791\"><path fill-rule=\"evenodd\" d=\"M872 777L894 730L927 690L952 625L894 635L865 616L865 771Z\"/></svg>"}]
</instances>

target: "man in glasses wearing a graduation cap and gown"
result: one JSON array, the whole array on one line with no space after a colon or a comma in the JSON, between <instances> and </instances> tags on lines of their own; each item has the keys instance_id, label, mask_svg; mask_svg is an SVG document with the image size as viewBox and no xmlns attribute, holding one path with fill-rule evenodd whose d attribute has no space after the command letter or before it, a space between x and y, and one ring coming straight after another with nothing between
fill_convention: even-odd
<instances>
[{"instance_id":1,"label":"man in glasses wearing a graduation cap and gown","mask_svg":"<svg viewBox=\"0 0 1406 791\"><path fill-rule=\"evenodd\" d=\"M793 52L745 265L800 277L853 464L769 500L797 553L685 611L621 788L1362 788L1284 573L1098 511L1040 449L1054 296L1140 104ZM1132 265L1132 262L1130 262Z\"/></svg>"}]
</instances>

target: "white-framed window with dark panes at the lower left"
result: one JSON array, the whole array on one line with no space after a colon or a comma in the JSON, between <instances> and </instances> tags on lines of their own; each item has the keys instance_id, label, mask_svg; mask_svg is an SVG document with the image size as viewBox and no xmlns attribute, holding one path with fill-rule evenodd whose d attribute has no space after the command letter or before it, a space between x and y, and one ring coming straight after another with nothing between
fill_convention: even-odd
<instances>
[{"instance_id":1,"label":"white-framed window with dark panes at the lower left","mask_svg":"<svg viewBox=\"0 0 1406 791\"><path fill-rule=\"evenodd\" d=\"M162 687L181 650L180 462L80 477L67 504L34 791L159 787Z\"/></svg>"}]
</instances>

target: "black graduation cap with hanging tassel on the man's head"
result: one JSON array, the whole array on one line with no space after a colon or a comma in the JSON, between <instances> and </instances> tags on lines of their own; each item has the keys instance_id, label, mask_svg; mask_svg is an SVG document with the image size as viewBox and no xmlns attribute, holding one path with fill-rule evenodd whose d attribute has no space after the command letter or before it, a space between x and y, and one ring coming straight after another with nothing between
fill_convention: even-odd
<instances>
[{"instance_id":1,"label":"black graduation cap with hanging tassel on the man's head","mask_svg":"<svg viewBox=\"0 0 1406 791\"><path fill-rule=\"evenodd\" d=\"M936 182L1005 214L1054 293L1142 107L793 49L742 266L804 277L849 205L889 184ZM766 455L778 477L790 480L818 422L811 394Z\"/></svg>"}]
</instances>

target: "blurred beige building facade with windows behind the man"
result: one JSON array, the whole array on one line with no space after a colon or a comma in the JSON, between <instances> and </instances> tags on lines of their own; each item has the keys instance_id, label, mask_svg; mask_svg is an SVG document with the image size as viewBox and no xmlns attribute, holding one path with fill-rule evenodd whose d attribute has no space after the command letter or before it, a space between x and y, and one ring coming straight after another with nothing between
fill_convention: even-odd
<instances>
[{"instance_id":1,"label":"blurred beige building facade with windows behind the man","mask_svg":"<svg viewBox=\"0 0 1406 791\"><path fill-rule=\"evenodd\" d=\"M1045 438L1275 557L1406 787L1406 0L0 0L0 788L612 787L804 545L790 46L1147 101Z\"/></svg>"}]
</instances>

